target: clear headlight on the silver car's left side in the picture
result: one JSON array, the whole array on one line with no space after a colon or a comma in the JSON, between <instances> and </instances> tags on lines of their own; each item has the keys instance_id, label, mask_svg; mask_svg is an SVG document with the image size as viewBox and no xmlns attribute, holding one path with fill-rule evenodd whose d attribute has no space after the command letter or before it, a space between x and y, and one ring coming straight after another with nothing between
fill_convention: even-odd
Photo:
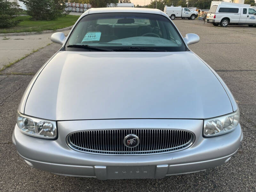
<instances>
[{"instance_id":1,"label":"clear headlight on the silver car's left side in the picture","mask_svg":"<svg viewBox=\"0 0 256 192\"><path fill-rule=\"evenodd\" d=\"M34 137L41 137L45 139L54 139L57 137L55 121L22 115L18 111L17 125L23 133Z\"/></svg>"}]
</instances>

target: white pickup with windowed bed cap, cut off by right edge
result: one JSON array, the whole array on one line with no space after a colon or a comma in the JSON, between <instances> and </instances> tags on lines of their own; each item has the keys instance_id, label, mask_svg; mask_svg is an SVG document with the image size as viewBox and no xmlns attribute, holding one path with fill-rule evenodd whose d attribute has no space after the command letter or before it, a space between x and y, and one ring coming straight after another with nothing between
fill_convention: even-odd
<instances>
[{"instance_id":1,"label":"white pickup with windowed bed cap, cut off by right edge","mask_svg":"<svg viewBox=\"0 0 256 192\"><path fill-rule=\"evenodd\" d=\"M219 24L221 27L227 27L228 24L253 26L256 24L256 10L250 8L248 4L223 2L213 4L206 19L207 23L212 23L214 26Z\"/></svg>"}]
</instances>

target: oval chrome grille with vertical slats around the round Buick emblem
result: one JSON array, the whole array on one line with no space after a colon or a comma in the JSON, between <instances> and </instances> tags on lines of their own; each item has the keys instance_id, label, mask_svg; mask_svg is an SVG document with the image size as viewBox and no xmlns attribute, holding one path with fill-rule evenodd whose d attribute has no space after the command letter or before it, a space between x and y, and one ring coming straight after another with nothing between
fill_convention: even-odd
<instances>
[{"instance_id":1,"label":"oval chrome grille with vertical slats around the round Buick emblem","mask_svg":"<svg viewBox=\"0 0 256 192\"><path fill-rule=\"evenodd\" d=\"M140 143L134 148L124 145L124 137L135 134ZM107 155L141 155L173 152L190 147L192 132L173 129L112 129L70 133L68 146L77 151Z\"/></svg>"}]
</instances>

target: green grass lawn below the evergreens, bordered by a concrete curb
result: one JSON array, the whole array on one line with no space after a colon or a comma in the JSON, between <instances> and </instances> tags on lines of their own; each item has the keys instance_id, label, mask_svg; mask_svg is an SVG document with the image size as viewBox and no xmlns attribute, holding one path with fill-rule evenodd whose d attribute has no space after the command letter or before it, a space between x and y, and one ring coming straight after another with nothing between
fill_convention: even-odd
<instances>
[{"instance_id":1,"label":"green grass lawn below the evergreens, bordered by a concrete curb","mask_svg":"<svg viewBox=\"0 0 256 192\"><path fill-rule=\"evenodd\" d=\"M78 15L66 15L52 21L32 21L29 19L30 16L17 16L14 20L22 19L23 21L12 28L0 28L0 33L40 32L61 29L74 25L79 17Z\"/></svg>"}]
</instances>

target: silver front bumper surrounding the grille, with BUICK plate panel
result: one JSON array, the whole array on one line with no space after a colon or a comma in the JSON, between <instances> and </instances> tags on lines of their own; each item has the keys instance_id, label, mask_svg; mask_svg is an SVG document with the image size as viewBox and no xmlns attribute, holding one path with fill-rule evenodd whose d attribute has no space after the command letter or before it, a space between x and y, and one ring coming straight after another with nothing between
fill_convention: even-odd
<instances>
[{"instance_id":1,"label":"silver front bumper surrounding the grille, with BUICK plate panel","mask_svg":"<svg viewBox=\"0 0 256 192\"><path fill-rule=\"evenodd\" d=\"M232 132L224 135L204 138L202 136L203 120L92 120L86 124L92 129L104 125L112 127L136 124L141 127L176 127L181 122L196 135L194 144L185 150L144 156L108 156L81 153L70 149L66 144L66 136L72 124L83 130L84 121L58 122L59 136L56 140L35 138L20 132L17 125L13 132L13 142L17 151L26 163L37 169L61 175L97 177L98 179L135 179L163 178L166 175L197 172L216 167L227 162L233 156L241 140L243 132L240 124ZM189 127L192 123L194 128ZM83 124L83 126L81 126ZM80 125L80 126L79 126ZM95 127L93 127L95 126ZM191 130L192 129L192 130ZM194 129L194 130L193 130ZM61 131L60 131L61 130Z\"/></svg>"}]
</instances>

